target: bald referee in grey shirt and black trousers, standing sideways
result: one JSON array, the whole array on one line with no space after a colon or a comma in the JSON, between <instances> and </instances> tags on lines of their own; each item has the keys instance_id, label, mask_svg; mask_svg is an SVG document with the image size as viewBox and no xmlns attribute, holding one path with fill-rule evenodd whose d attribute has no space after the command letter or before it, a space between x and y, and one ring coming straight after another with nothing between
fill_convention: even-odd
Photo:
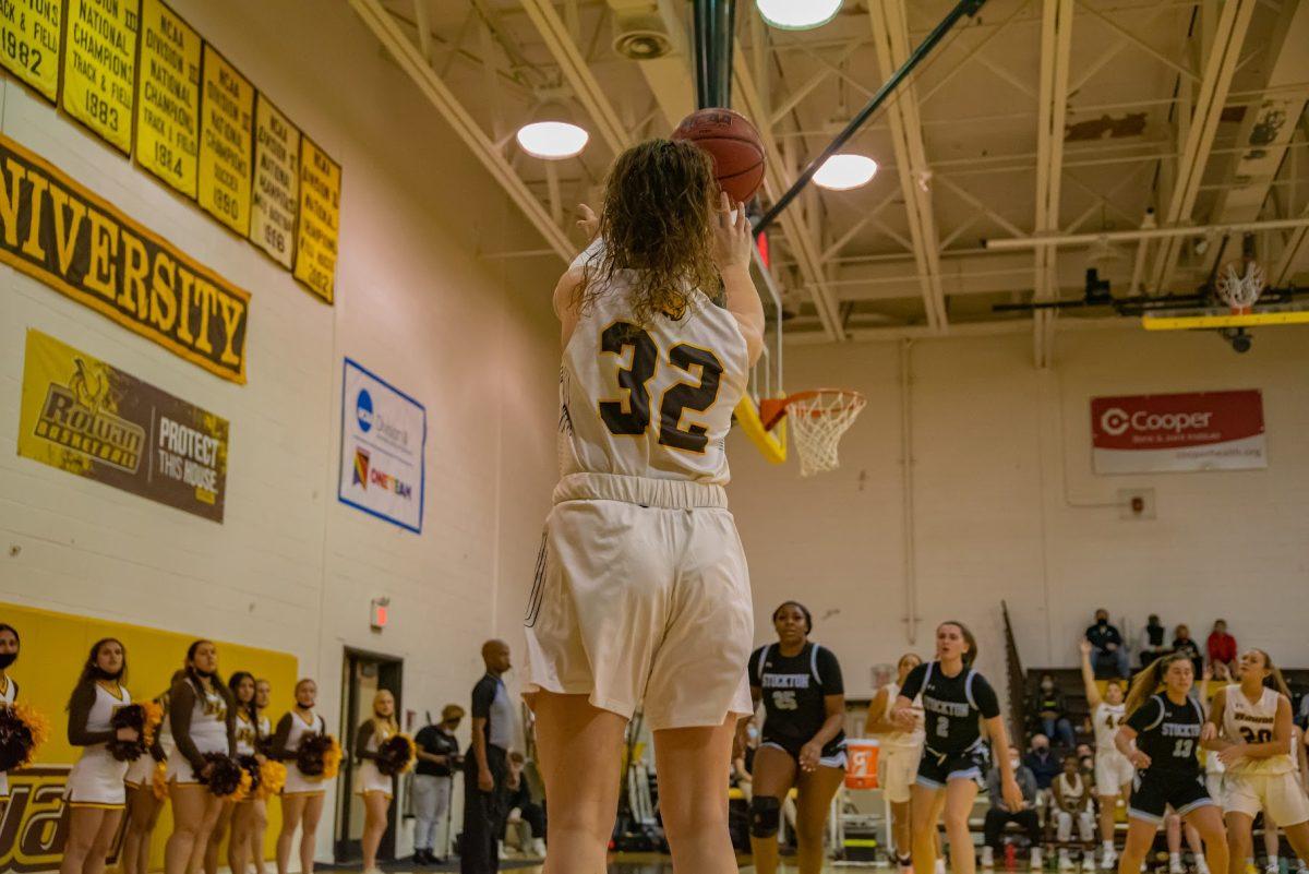
<instances>
[{"instance_id":1,"label":"bald referee in grey shirt and black trousers, standing sideways","mask_svg":"<svg viewBox=\"0 0 1309 874\"><path fill-rule=\"evenodd\" d=\"M487 673L473 687L473 746L463 758L463 843L459 870L493 874L500 869L499 841L508 809L508 750L513 739L513 705L501 676L509 670L509 645L482 645Z\"/></svg>"}]
</instances>

